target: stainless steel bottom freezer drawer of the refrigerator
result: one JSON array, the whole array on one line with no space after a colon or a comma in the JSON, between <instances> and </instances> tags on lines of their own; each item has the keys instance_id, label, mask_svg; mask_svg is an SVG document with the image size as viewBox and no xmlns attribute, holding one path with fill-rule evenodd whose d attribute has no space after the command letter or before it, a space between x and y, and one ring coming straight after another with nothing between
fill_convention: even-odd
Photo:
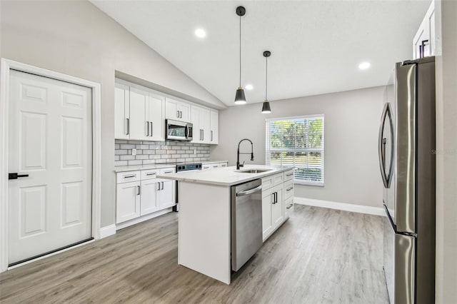
<instances>
[{"instance_id":1,"label":"stainless steel bottom freezer drawer of the refrigerator","mask_svg":"<svg viewBox=\"0 0 457 304\"><path fill-rule=\"evenodd\" d=\"M383 218L383 269L391 304L415 303L416 238L395 233L386 211Z\"/></svg>"}]
</instances>

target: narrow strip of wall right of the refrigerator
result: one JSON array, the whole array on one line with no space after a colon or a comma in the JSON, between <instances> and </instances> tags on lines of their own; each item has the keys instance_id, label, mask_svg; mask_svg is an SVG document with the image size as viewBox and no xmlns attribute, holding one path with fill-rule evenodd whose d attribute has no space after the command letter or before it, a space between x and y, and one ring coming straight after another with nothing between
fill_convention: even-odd
<instances>
[{"instance_id":1,"label":"narrow strip of wall right of the refrigerator","mask_svg":"<svg viewBox=\"0 0 457 304\"><path fill-rule=\"evenodd\" d=\"M435 4L436 303L447 304L457 303L457 1Z\"/></svg>"}]
</instances>

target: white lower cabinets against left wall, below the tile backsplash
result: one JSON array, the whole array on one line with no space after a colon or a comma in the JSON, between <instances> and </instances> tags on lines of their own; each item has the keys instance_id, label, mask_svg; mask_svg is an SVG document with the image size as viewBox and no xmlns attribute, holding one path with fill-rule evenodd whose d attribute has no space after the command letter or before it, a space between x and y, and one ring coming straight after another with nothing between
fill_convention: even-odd
<instances>
[{"instance_id":1,"label":"white lower cabinets against left wall, below the tile backsplash","mask_svg":"<svg viewBox=\"0 0 457 304\"><path fill-rule=\"evenodd\" d=\"M173 207L176 183L156 178L156 175L174 173L174 171L174 168L164 168L117 173L116 224L150 215L144 218L147 220L151 216L154 217L153 213ZM136 181L129 181L129 178ZM139 222L129 222L128 224L133 225Z\"/></svg>"}]
</instances>

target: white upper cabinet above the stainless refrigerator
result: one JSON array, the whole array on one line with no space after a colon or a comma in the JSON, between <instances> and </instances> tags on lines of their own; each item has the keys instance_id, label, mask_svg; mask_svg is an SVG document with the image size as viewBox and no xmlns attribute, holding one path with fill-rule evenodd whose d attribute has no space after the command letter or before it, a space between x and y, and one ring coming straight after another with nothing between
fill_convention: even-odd
<instances>
[{"instance_id":1,"label":"white upper cabinet above the stainless refrigerator","mask_svg":"<svg viewBox=\"0 0 457 304\"><path fill-rule=\"evenodd\" d=\"M432 1L413 39L413 59L435 56L435 4Z\"/></svg>"}]
</instances>

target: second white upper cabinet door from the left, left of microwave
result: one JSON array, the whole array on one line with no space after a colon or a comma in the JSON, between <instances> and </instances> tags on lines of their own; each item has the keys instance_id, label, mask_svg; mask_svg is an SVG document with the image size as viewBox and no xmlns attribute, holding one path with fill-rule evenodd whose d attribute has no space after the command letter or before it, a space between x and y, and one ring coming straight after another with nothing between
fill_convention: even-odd
<instances>
[{"instance_id":1,"label":"second white upper cabinet door from the left, left of microwave","mask_svg":"<svg viewBox=\"0 0 457 304\"><path fill-rule=\"evenodd\" d=\"M148 140L146 123L146 104L149 104L149 92L130 87L130 139Z\"/></svg>"}]
</instances>

